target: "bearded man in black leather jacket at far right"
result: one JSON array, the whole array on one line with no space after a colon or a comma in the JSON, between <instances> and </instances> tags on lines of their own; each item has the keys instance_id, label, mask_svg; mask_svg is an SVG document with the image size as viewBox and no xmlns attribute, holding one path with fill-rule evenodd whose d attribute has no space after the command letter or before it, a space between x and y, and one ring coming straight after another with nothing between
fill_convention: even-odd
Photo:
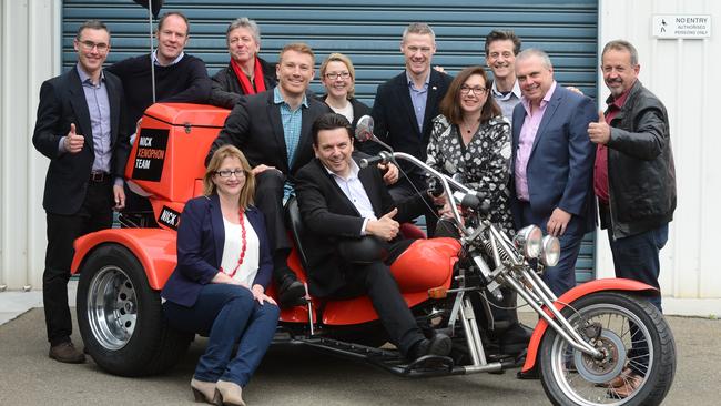
<instances>
[{"instance_id":1,"label":"bearded man in black leather jacket at far right","mask_svg":"<svg viewBox=\"0 0 721 406\"><path fill-rule=\"evenodd\" d=\"M631 43L607 43L601 62L611 95L606 113L588 128L598 144L593 186L601 227L608 229L616 276L658 288L659 251L676 209L669 119L663 103L638 80ZM661 309L660 295L650 301Z\"/></svg>"}]
</instances>

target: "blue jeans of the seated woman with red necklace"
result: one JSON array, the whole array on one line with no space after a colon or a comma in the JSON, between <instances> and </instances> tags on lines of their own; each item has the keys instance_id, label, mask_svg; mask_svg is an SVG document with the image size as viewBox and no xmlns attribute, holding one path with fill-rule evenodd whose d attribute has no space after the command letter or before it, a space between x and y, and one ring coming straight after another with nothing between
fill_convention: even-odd
<instances>
[{"instance_id":1,"label":"blue jeans of the seated woman with red necklace","mask_svg":"<svg viewBox=\"0 0 721 406\"><path fill-rule=\"evenodd\" d=\"M207 284L193 307L163 304L174 328L207 335L207 348L195 367L195 379L247 385L261 364L277 326L278 307L253 300L253 293L237 285ZM233 346L238 343L237 354Z\"/></svg>"}]
</instances>

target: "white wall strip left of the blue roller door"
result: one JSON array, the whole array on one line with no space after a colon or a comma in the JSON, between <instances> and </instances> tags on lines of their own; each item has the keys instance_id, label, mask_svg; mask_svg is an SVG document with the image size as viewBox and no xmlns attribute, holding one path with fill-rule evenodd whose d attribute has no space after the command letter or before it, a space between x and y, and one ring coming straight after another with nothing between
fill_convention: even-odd
<instances>
[{"instance_id":1,"label":"white wall strip left of the blue roller door","mask_svg":"<svg viewBox=\"0 0 721 406\"><path fill-rule=\"evenodd\" d=\"M40 288L48 160L32 146L38 93L60 72L60 0L0 8L0 285Z\"/></svg>"}]
</instances>

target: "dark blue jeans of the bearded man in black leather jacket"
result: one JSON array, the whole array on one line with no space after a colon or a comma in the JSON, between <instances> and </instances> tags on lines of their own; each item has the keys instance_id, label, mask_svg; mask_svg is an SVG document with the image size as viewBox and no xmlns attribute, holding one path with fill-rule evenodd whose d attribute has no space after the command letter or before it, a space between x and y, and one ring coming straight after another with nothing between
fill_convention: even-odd
<instances>
[{"instance_id":1,"label":"dark blue jeans of the bearded man in black leather jacket","mask_svg":"<svg viewBox=\"0 0 721 406\"><path fill-rule=\"evenodd\" d=\"M669 240L669 224L649 230L641 234L613 240L611 231L608 241L613 254L616 277L626 277L659 288L661 265L659 252ZM661 312L661 295L649 297L649 302Z\"/></svg>"}]
</instances>

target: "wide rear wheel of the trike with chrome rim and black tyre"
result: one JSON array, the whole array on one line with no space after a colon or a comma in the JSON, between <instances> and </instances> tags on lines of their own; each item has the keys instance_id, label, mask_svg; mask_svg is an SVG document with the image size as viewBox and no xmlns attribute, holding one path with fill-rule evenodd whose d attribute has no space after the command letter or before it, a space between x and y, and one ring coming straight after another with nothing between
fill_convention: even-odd
<instances>
[{"instance_id":1,"label":"wide rear wheel of the trike with chrome rim and black tyre","mask_svg":"<svg viewBox=\"0 0 721 406\"><path fill-rule=\"evenodd\" d=\"M78 283L78 325L85 351L106 372L158 374L182 358L192 334L171 328L138 258L120 244L95 248Z\"/></svg>"}]
</instances>

